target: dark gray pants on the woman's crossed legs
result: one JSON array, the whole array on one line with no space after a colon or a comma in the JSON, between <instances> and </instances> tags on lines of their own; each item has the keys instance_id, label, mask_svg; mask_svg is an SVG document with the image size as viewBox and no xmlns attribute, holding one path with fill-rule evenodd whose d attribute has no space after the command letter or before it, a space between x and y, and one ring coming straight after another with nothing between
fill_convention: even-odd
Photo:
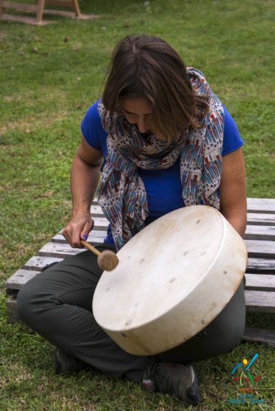
<instances>
[{"instance_id":1,"label":"dark gray pants on the woman's crossed legs","mask_svg":"<svg viewBox=\"0 0 275 411\"><path fill-rule=\"evenodd\" d=\"M114 250L112 245L97 248ZM132 356L94 320L92 296L101 273L90 251L66 258L23 286L17 297L18 315L70 356L103 373L135 382L156 360L195 362L227 353L241 342L246 321L244 280L224 310L196 336L157 356Z\"/></svg>"}]
</instances>

